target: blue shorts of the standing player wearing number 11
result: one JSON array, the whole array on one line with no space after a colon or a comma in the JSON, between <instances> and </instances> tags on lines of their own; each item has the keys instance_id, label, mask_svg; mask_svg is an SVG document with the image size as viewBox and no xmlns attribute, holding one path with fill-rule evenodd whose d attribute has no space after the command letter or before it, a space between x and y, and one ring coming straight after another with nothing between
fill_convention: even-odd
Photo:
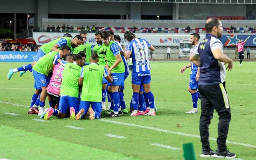
<instances>
[{"instance_id":1,"label":"blue shorts of the standing player wearing number 11","mask_svg":"<svg viewBox=\"0 0 256 160\"><path fill-rule=\"evenodd\" d=\"M150 82L151 82L150 70L132 73L132 84L141 85L141 84L150 84Z\"/></svg>"}]
</instances>

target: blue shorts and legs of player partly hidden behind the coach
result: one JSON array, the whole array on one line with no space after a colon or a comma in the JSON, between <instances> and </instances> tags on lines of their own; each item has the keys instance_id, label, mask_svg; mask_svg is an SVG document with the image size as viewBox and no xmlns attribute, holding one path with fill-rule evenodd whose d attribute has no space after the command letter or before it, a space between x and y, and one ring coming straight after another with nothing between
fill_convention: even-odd
<instances>
[{"instance_id":1,"label":"blue shorts and legs of player partly hidden behind the coach","mask_svg":"<svg viewBox=\"0 0 256 160\"><path fill-rule=\"evenodd\" d=\"M196 74L192 74L190 75L190 79L189 79L188 91L191 93L193 108L192 110L186 113L197 113L197 101L198 101L197 89L198 89L198 82L196 81Z\"/></svg>"}]
</instances>

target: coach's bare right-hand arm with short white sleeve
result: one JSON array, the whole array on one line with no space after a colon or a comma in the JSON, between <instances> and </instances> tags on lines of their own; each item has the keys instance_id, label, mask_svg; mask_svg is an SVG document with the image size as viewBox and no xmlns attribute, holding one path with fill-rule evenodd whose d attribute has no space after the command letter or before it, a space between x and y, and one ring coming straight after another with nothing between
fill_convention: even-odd
<instances>
[{"instance_id":1,"label":"coach's bare right-hand arm with short white sleeve","mask_svg":"<svg viewBox=\"0 0 256 160\"><path fill-rule=\"evenodd\" d=\"M222 53L221 51L221 44L219 43L215 43L212 45L211 47L211 51L212 51L212 55L214 56L214 58L220 62L225 62L228 63L229 65L227 66L226 69L230 69L230 71L232 70L233 67L233 61L231 58L229 58L228 56L226 56L224 53Z\"/></svg>"}]
</instances>

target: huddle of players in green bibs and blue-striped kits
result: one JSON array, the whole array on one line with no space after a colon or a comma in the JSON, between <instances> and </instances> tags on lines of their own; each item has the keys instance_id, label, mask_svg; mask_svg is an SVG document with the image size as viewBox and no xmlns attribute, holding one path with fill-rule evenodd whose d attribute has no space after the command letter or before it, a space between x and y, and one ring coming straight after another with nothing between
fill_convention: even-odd
<instances>
[{"instance_id":1,"label":"huddle of players in green bibs and blue-striped kits","mask_svg":"<svg viewBox=\"0 0 256 160\"><path fill-rule=\"evenodd\" d=\"M94 47L86 43L87 35L81 31L72 38L66 33L42 45L32 64L9 69L8 80L16 72L20 72L20 76L26 71L33 73L36 91L28 114L38 114L44 119L52 115L70 116L75 120L85 116L98 119L102 110L106 110L108 117L128 114L123 90L131 69L130 116L155 116L148 59L148 49L154 51L155 48L147 40L136 38L131 31L124 33L124 40L128 41L126 49L119 44L120 36L111 31L95 33L97 45ZM132 58L132 67L128 66L129 58ZM50 107L44 109L46 97Z\"/></svg>"}]
</instances>

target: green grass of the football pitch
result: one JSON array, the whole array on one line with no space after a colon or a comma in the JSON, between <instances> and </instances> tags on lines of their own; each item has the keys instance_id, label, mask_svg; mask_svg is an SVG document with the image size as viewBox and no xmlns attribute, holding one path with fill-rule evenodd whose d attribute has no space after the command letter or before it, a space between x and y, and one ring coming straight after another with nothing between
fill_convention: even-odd
<instances>
[{"instance_id":1,"label":"green grass of the football pitch","mask_svg":"<svg viewBox=\"0 0 256 160\"><path fill-rule=\"evenodd\" d=\"M199 113L185 114L192 108L191 95L187 91L190 69L183 75L179 69L188 62L152 62L152 93L158 108L157 116L130 117L123 115L119 118L105 118L168 131L199 135ZM37 115L28 115L29 106L34 92L33 75L26 73L19 77L16 73L11 80L6 74L10 67L18 67L22 63L0 63L0 158L17 159L143 159L143 160L182 160L183 150L170 150L152 143L170 145L182 148L188 142L194 144L196 158L201 153L200 138L177 135L170 132L139 128L130 125L114 124L102 120L72 121L68 118L58 119L50 117L49 122L31 120ZM243 62L227 72L226 89L229 94L232 118L227 140L243 144L256 145L254 134L255 122L255 62ZM124 90L126 104L130 104L132 96L131 77L126 80ZM46 102L46 104L48 104ZM200 106L200 100L199 100ZM18 116L4 114L16 113ZM179 124L179 125L177 125ZM64 127L72 125L83 129ZM179 126L179 127L178 127ZM210 137L218 136L218 114L214 113L209 131ZM105 134L121 135L126 138L117 139ZM210 140L212 149L217 144ZM237 144L227 144L231 152L238 158L254 160L256 148L244 147Z\"/></svg>"}]
</instances>

